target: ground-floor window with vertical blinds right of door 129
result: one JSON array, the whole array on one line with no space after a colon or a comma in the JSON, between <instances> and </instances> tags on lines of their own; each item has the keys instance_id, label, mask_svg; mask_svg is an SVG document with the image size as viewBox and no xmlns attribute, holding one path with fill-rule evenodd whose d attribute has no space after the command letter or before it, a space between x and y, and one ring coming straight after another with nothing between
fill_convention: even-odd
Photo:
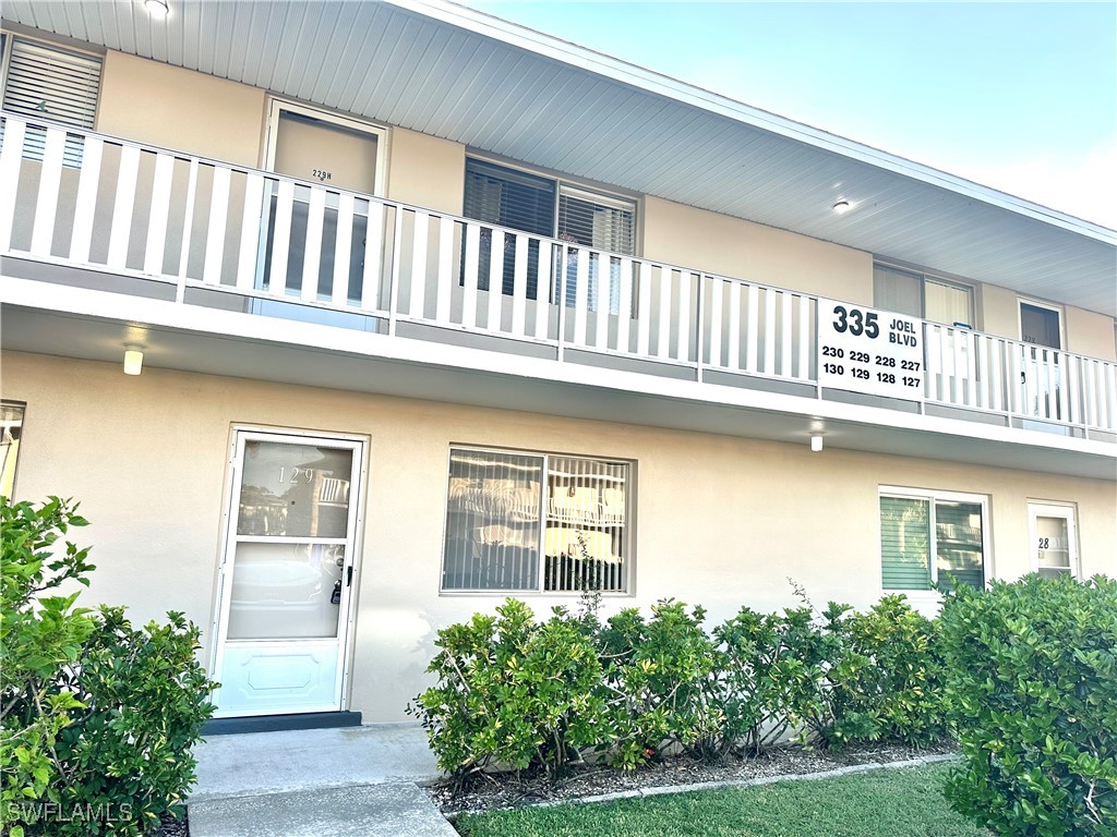
<instances>
[{"instance_id":1,"label":"ground-floor window with vertical blinds right of door 129","mask_svg":"<svg viewBox=\"0 0 1117 837\"><path fill-rule=\"evenodd\" d=\"M450 451L443 590L623 591L630 463Z\"/></svg>"}]
</instances>

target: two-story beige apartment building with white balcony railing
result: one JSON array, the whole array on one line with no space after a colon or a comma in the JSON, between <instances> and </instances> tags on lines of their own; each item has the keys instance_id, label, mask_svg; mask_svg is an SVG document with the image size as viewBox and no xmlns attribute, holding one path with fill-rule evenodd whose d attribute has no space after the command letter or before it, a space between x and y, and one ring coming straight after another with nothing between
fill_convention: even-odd
<instances>
[{"instance_id":1,"label":"two-story beige apartment building with white balcony railing","mask_svg":"<svg viewBox=\"0 0 1117 837\"><path fill-rule=\"evenodd\" d=\"M437 0L152 6L3 6L2 490L220 714L403 720L508 595L1117 574L1113 230Z\"/></svg>"}]
</instances>

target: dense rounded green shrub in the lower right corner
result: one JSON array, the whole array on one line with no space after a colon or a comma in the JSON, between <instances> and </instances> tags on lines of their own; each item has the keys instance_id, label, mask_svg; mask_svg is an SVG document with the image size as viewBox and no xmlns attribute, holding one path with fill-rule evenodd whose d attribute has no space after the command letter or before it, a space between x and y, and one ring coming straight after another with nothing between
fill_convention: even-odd
<instances>
[{"instance_id":1,"label":"dense rounded green shrub in the lower right corner","mask_svg":"<svg viewBox=\"0 0 1117 837\"><path fill-rule=\"evenodd\" d=\"M960 586L941 622L952 807L1002 835L1117 835L1117 581Z\"/></svg>"}]
</instances>

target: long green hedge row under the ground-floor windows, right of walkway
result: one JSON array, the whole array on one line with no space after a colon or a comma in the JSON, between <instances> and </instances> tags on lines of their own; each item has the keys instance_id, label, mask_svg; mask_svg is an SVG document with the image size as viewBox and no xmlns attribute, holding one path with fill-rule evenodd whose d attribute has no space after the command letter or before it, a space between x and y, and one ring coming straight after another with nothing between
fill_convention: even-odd
<instances>
[{"instance_id":1,"label":"long green hedge row under the ground-floor windows, right of walkway","mask_svg":"<svg viewBox=\"0 0 1117 837\"><path fill-rule=\"evenodd\" d=\"M934 624L903 596L858 613L831 603L744 607L708 632L705 610L660 602L646 618L556 607L543 622L508 599L439 632L438 682L409 706L441 769L555 776L594 754L634 769L665 749L700 758L793 733L829 749L947 733Z\"/></svg>"}]
</instances>

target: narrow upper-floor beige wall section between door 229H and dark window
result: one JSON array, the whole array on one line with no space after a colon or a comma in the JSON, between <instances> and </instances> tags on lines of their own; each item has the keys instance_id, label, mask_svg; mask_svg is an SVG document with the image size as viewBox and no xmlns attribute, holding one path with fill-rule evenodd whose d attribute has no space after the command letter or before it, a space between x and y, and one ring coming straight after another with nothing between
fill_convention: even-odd
<instances>
[{"instance_id":1,"label":"narrow upper-floor beige wall section between door 229H and dark window","mask_svg":"<svg viewBox=\"0 0 1117 837\"><path fill-rule=\"evenodd\" d=\"M392 128L391 142L388 196L460 215L466 146L407 128Z\"/></svg>"}]
</instances>

